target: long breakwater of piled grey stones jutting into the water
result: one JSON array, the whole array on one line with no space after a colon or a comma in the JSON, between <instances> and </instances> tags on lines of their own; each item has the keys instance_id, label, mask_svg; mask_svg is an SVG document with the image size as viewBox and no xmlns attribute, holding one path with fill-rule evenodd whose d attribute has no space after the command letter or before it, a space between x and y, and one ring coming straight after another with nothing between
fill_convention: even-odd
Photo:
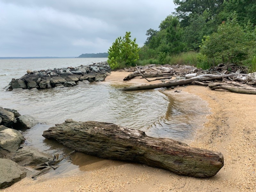
<instances>
[{"instance_id":1,"label":"long breakwater of piled grey stones jutting into the water","mask_svg":"<svg viewBox=\"0 0 256 192\"><path fill-rule=\"evenodd\" d=\"M94 81L104 81L109 75L111 68L107 62L93 63L87 66L76 68L67 67L47 69L40 71L27 70L27 74L12 81L4 89L12 91L14 89L46 89L52 87L71 87L83 83Z\"/></svg>"}]
</instances>

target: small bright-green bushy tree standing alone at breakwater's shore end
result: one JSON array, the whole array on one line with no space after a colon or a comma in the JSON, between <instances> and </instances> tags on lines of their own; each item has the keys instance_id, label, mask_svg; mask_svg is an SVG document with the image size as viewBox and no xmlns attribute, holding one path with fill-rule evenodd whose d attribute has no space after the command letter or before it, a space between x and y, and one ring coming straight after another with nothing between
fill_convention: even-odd
<instances>
[{"instance_id":1,"label":"small bright-green bushy tree standing alone at breakwater's shore end","mask_svg":"<svg viewBox=\"0 0 256 192\"><path fill-rule=\"evenodd\" d=\"M139 59L139 48L136 38L132 41L131 32L126 32L125 36L116 39L108 49L108 63L112 69L122 66L131 66Z\"/></svg>"}]
</instances>

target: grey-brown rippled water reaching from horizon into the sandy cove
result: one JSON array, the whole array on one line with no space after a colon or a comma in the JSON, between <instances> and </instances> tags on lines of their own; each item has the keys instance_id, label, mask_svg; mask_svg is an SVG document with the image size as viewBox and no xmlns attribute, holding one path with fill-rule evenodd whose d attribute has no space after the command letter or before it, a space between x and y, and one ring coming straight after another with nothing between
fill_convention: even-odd
<instances>
[{"instance_id":1,"label":"grey-brown rippled water reaching from horizon into the sandy cove","mask_svg":"<svg viewBox=\"0 0 256 192\"><path fill-rule=\"evenodd\" d=\"M77 67L107 58L65 59L0 59L0 86L4 88L12 78L20 78L27 69L41 70ZM209 114L207 103L186 92L157 89L122 92L124 85L109 82L78 84L74 87L53 88L38 91L22 90L7 92L0 89L0 106L16 109L21 115L36 118L39 124L26 130L26 144L40 151L67 154L71 151L59 143L45 139L44 130L63 123L66 119L76 121L101 121L145 131L154 137L167 137L183 142L193 139L205 116ZM77 160L78 159L78 160ZM102 159L75 153L61 162L60 173L79 171Z\"/></svg>"}]
</instances>

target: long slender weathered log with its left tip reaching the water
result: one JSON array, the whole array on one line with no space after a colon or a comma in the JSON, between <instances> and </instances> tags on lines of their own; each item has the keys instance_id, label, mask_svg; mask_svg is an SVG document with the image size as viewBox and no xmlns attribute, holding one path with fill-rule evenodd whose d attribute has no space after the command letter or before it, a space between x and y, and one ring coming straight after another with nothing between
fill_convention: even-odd
<instances>
[{"instance_id":1,"label":"long slender weathered log with its left tip reaching the water","mask_svg":"<svg viewBox=\"0 0 256 192\"><path fill-rule=\"evenodd\" d=\"M193 81L210 81L215 79L221 79L222 77L228 76L237 76L236 74L225 74L225 75L212 75L212 74L205 74L196 77L192 77L190 79L181 79L178 81L172 81L168 83L160 83L160 84L149 84L149 85L140 85L140 86L131 86L131 87L124 87L123 91L135 91L135 90L143 90L143 89L156 89L161 87L172 87L178 85L187 85L191 84Z\"/></svg>"}]
</instances>

